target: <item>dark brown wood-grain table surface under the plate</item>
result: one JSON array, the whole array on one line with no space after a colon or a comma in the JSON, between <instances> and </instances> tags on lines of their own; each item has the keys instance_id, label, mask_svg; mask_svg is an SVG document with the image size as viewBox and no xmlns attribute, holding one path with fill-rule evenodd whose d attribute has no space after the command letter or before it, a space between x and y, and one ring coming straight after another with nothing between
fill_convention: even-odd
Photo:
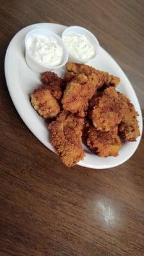
<instances>
[{"instance_id":1,"label":"dark brown wood-grain table surface under the plate","mask_svg":"<svg viewBox=\"0 0 144 256\"><path fill-rule=\"evenodd\" d=\"M144 255L144 139L113 169L69 169L29 131L4 79L4 54L36 22L90 29L144 111L144 1L3 1L0 6L0 255Z\"/></svg>"}]
</instances>

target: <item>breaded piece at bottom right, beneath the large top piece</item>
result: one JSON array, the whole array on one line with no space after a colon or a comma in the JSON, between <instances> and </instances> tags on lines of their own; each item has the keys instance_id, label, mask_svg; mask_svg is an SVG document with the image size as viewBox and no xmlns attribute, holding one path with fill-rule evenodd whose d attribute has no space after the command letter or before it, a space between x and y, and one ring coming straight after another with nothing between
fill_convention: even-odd
<instances>
[{"instance_id":1,"label":"breaded piece at bottom right, beneath the large top piece","mask_svg":"<svg viewBox=\"0 0 144 256\"><path fill-rule=\"evenodd\" d=\"M86 145L94 154L100 157L118 156L118 150L122 147L117 135L118 128L109 132L97 131L95 127L88 127L86 132Z\"/></svg>"}]
</instances>

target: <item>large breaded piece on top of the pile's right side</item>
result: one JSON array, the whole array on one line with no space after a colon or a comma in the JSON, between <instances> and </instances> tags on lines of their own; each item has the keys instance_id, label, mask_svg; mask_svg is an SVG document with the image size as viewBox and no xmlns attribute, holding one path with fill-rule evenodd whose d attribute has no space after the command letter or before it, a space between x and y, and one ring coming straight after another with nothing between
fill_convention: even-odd
<instances>
[{"instance_id":1,"label":"large breaded piece on top of the pile's right side","mask_svg":"<svg viewBox=\"0 0 144 256\"><path fill-rule=\"evenodd\" d=\"M99 131L109 131L120 124L124 116L124 104L115 88L109 87L93 99L91 118ZM93 104L92 102L92 104Z\"/></svg>"}]
</instances>

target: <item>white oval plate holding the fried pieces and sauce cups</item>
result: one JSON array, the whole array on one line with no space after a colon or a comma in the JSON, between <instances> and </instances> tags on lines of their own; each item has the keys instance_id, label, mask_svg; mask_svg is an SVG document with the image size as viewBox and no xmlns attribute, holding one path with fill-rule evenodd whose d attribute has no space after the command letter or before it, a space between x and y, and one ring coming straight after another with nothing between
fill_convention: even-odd
<instances>
[{"instance_id":1,"label":"white oval plate holding the fried pieces and sauce cups","mask_svg":"<svg viewBox=\"0 0 144 256\"><path fill-rule=\"evenodd\" d=\"M26 33L34 28L49 29L61 36L61 33L66 27L58 24L40 23L33 24L20 30L12 38L6 51L4 62L6 83L10 96L13 100L13 104L15 105L15 108L17 109L22 120L29 127L31 132L35 134L38 140L40 140L47 148L55 152L51 145L51 141L49 141L49 132L47 131L43 118L38 116L36 111L31 107L31 103L29 101L29 93L31 93L39 84L41 84L40 74L34 72L28 67L24 57L24 38ZM129 97L131 102L134 104L136 111L138 111L140 133L142 133L143 123L140 104L129 79L127 79L127 76L125 76L124 72L118 66L116 61L113 60L108 52L100 47L100 52L96 60L93 60L88 64L97 69L108 71L110 74L120 77L121 82L117 89ZM61 75L60 70L58 71L58 74ZM127 159L134 154L136 148L138 148L140 140L141 136L138 137L138 139L134 142L125 143L119 152L119 156L117 157L98 157L84 146L86 156L84 157L83 161L80 161L78 164L95 169L105 169L118 166L119 164L127 161Z\"/></svg>"}]
</instances>

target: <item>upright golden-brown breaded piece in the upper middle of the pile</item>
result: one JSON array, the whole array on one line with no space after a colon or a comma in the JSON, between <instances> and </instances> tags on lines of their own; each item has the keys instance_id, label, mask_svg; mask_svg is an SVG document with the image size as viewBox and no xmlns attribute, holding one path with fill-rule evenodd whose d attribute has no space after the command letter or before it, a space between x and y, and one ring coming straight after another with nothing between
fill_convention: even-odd
<instances>
[{"instance_id":1,"label":"upright golden-brown breaded piece in the upper middle of the pile","mask_svg":"<svg viewBox=\"0 0 144 256\"><path fill-rule=\"evenodd\" d=\"M90 100L95 93L95 77L93 74L85 76L79 74L70 83L63 93L63 109L71 113L77 113L78 116L84 117L88 108L88 100Z\"/></svg>"}]
</instances>

